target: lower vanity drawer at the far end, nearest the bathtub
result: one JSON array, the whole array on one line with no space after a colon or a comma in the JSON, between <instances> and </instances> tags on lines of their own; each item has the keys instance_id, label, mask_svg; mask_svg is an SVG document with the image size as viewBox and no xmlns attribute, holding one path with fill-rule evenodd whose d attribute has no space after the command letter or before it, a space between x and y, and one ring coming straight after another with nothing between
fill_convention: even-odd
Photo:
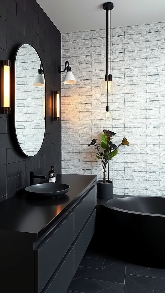
<instances>
[{"instance_id":1,"label":"lower vanity drawer at the far end, nearest the bathtub","mask_svg":"<svg viewBox=\"0 0 165 293\"><path fill-rule=\"evenodd\" d=\"M74 241L74 274L80 265L83 255L95 232L96 209L92 212L90 218L85 223L83 229Z\"/></svg>"}]
</instances>

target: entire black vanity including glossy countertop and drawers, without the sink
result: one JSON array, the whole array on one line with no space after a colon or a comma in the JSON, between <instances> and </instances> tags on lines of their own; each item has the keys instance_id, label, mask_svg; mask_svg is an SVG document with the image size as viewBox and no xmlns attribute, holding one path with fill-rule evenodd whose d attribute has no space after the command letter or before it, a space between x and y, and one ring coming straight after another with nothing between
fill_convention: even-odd
<instances>
[{"instance_id":1,"label":"entire black vanity including glossy countertop and drawers, without the sink","mask_svg":"<svg viewBox=\"0 0 165 293\"><path fill-rule=\"evenodd\" d=\"M96 180L59 174L62 197L22 191L0 203L0 292L66 292L95 231Z\"/></svg>"}]
</instances>

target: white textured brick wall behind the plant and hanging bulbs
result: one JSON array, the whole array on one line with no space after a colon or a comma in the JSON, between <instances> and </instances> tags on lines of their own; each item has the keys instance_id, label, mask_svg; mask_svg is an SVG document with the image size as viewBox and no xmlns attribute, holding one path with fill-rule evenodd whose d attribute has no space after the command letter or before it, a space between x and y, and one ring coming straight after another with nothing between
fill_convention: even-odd
<instances>
[{"instance_id":1,"label":"white textured brick wall behind the plant and hanging bulbs","mask_svg":"<svg viewBox=\"0 0 165 293\"><path fill-rule=\"evenodd\" d=\"M62 35L62 67L68 60L77 80L62 83L62 172L102 179L100 160L87 144L105 128L116 132L114 143L130 142L110 161L114 193L165 196L165 22L113 28L111 41L117 91L106 122L107 98L99 91L105 30Z\"/></svg>"}]
</instances>

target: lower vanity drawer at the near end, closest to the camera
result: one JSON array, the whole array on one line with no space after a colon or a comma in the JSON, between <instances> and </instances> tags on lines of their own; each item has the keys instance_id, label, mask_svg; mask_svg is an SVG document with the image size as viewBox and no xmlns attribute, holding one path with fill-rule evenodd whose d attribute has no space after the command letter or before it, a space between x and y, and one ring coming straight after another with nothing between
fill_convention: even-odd
<instances>
[{"instance_id":1,"label":"lower vanity drawer at the near end, closest to the camera","mask_svg":"<svg viewBox=\"0 0 165 293\"><path fill-rule=\"evenodd\" d=\"M68 286L73 278L73 247L69 249L62 263L53 273L41 293L66 293Z\"/></svg>"}]
</instances>

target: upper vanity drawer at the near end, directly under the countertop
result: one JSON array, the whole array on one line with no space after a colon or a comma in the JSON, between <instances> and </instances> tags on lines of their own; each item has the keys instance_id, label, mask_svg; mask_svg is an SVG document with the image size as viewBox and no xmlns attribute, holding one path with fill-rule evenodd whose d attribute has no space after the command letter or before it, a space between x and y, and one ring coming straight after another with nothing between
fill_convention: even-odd
<instances>
[{"instance_id":1,"label":"upper vanity drawer at the near end, directly under the countertop","mask_svg":"<svg viewBox=\"0 0 165 293\"><path fill-rule=\"evenodd\" d=\"M73 220L71 211L35 248L35 293L41 292L73 243Z\"/></svg>"}]
</instances>

